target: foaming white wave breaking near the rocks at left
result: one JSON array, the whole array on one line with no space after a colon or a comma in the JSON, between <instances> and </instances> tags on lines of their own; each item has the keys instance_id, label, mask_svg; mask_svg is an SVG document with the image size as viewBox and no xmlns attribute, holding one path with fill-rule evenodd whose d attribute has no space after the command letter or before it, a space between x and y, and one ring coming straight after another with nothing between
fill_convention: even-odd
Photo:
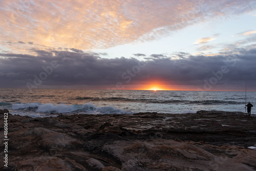
<instances>
[{"instance_id":1,"label":"foaming white wave breaking near the rocks at left","mask_svg":"<svg viewBox=\"0 0 256 171\"><path fill-rule=\"evenodd\" d=\"M37 113L63 113L63 114L133 114L130 111L116 109L113 106L96 106L92 103L85 104L41 104L41 103L14 103L12 110L33 111Z\"/></svg>"}]
</instances>

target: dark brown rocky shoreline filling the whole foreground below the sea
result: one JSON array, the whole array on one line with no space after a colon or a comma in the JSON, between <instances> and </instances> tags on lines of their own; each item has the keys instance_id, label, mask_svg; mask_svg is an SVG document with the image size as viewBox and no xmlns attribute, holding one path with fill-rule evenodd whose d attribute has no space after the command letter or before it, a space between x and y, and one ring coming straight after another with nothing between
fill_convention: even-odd
<instances>
[{"instance_id":1,"label":"dark brown rocky shoreline filling the whole foreground below the sea","mask_svg":"<svg viewBox=\"0 0 256 171\"><path fill-rule=\"evenodd\" d=\"M255 135L256 116L240 112L9 114L8 167L2 162L0 169L256 170L256 151L247 148ZM0 139L4 156L3 119Z\"/></svg>"}]
</instances>

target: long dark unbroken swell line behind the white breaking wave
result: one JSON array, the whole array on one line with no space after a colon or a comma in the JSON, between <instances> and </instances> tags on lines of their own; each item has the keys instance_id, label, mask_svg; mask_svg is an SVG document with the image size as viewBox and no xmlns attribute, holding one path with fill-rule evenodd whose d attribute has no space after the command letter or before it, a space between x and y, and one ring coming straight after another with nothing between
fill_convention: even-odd
<instances>
[{"instance_id":1,"label":"long dark unbroken swell line behind the white breaking wave","mask_svg":"<svg viewBox=\"0 0 256 171\"><path fill-rule=\"evenodd\" d=\"M77 97L75 100L84 101L123 101L123 102L143 102L143 103L183 103L183 104L243 104L243 101L231 100L202 100L202 101L188 101L188 100L155 100L146 98L123 98L123 97L110 97L110 98L94 98L94 97Z\"/></svg>"}]
</instances>

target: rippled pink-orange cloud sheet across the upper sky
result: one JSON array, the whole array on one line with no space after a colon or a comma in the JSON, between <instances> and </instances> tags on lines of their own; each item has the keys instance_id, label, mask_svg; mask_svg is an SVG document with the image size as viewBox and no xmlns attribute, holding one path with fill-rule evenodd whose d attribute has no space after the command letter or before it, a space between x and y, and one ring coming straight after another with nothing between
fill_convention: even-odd
<instances>
[{"instance_id":1,"label":"rippled pink-orange cloud sheet across the upper sky","mask_svg":"<svg viewBox=\"0 0 256 171\"><path fill-rule=\"evenodd\" d=\"M104 49L159 39L204 20L245 13L252 10L253 2L0 1L0 38L5 42L33 42L38 49L43 49L41 46ZM212 37L199 42L205 43L209 40ZM8 48L13 50L19 47L14 45ZM23 47L21 50L24 49Z\"/></svg>"}]
</instances>

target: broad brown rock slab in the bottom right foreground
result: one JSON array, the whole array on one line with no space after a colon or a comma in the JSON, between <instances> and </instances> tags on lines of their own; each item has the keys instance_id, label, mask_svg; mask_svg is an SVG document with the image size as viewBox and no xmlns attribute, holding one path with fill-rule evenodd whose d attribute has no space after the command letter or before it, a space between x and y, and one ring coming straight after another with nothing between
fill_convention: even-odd
<instances>
[{"instance_id":1,"label":"broad brown rock slab in the bottom right foreground","mask_svg":"<svg viewBox=\"0 0 256 171\"><path fill-rule=\"evenodd\" d=\"M104 145L103 149L122 161L122 170L253 170L251 167L256 166L253 163L256 159L254 151L233 147L226 152L218 146L165 139L136 141L133 144L116 141L112 145ZM233 155L237 156L234 158Z\"/></svg>"}]
</instances>

